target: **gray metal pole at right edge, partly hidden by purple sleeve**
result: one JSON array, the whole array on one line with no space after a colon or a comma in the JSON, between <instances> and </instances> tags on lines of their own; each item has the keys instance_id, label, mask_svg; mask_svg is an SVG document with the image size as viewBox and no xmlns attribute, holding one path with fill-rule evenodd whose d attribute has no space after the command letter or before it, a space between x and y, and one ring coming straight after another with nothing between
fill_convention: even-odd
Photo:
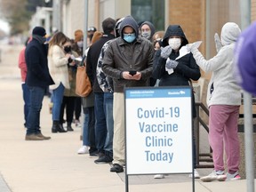
<instances>
[{"instance_id":1,"label":"gray metal pole at right edge, partly hidden by purple sleeve","mask_svg":"<svg viewBox=\"0 0 256 192\"><path fill-rule=\"evenodd\" d=\"M251 24L251 1L240 0L241 28ZM244 91L244 146L247 192L254 192L254 156L252 95Z\"/></svg>"}]
</instances>

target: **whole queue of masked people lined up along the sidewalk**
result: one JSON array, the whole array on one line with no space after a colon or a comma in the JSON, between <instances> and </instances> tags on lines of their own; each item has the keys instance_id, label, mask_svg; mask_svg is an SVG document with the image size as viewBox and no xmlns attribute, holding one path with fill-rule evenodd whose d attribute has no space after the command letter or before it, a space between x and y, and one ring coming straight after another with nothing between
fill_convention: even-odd
<instances>
[{"instance_id":1,"label":"whole queue of masked people lined up along the sidewalk","mask_svg":"<svg viewBox=\"0 0 256 192\"><path fill-rule=\"evenodd\" d=\"M231 76L233 48L241 32L236 23L227 23L221 30L220 38L215 37L218 53L211 60L205 60L193 44L188 44L180 25L170 25L165 32L155 33L151 22L145 21L139 27L132 16L126 16L118 20L107 18L103 20L102 28L103 33L94 32L92 45L85 51L84 64L93 91L82 98L83 146L77 153L97 156L96 164L112 163L110 172L124 172L124 87L192 86L192 81L201 77L202 68L205 72L212 72L207 104L210 108L209 142L213 150L214 170L201 180L239 180L236 129L241 92ZM70 101L63 95L65 88L68 90L72 86L69 80L74 78L72 67L76 63L71 55L74 55L75 48L71 48L72 42L67 36L58 32L52 36L48 51L44 44L44 28L36 27L32 34L33 39L25 54L28 66L26 84L30 89L26 140L49 140L40 131L39 124L44 91L49 85L53 90L52 132L66 132L60 126L60 121L63 121L60 109L62 100L67 105ZM184 46L188 53L177 59L180 48ZM232 99L229 99L228 92L233 92ZM194 94L192 98L195 118ZM68 129L72 131L70 119L67 120ZM193 141L194 175L190 177L200 178L196 171L196 142ZM228 156L227 173L223 148ZM157 174L155 178L164 178L164 174Z\"/></svg>"}]
</instances>

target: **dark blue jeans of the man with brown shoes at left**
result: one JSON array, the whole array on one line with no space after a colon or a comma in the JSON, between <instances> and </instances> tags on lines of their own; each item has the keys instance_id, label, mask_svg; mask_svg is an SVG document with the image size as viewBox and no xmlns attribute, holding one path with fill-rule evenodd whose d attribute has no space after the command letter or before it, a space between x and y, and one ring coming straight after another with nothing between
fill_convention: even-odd
<instances>
[{"instance_id":1,"label":"dark blue jeans of the man with brown shoes at left","mask_svg":"<svg viewBox=\"0 0 256 192\"><path fill-rule=\"evenodd\" d=\"M40 112L44 100L45 89L42 87L29 87L30 108L28 112L27 135L40 133Z\"/></svg>"}]
</instances>

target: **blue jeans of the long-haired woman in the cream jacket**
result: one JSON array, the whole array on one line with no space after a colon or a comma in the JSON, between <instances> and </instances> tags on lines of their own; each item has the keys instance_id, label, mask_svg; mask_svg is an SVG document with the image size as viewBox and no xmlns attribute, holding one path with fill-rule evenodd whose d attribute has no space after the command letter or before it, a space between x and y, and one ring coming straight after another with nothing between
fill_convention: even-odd
<instances>
[{"instance_id":1,"label":"blue jeans of the long-haired woman in the cream jacket","mask_svg":"<svg viewBox=\"0 0 256 192\"><path fill-rule=\"evenodd\" d=\"M65 87L63 84L60 83L60 85L52 91L52 120L53 121L60 121L60 108L61 103L63 100Z\"/></svg>"}]
</instances>

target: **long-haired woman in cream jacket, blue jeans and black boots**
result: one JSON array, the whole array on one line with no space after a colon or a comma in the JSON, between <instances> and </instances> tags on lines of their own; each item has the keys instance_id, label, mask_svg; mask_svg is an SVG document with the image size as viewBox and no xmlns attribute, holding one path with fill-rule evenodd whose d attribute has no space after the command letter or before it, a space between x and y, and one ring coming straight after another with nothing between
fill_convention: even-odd
<instances>
[{"instance_id":1,"label":"long-haired woman in cream jacket, blue jeans and black boots","mask_svg":"<svg viewBox=\"0 0 256 192\"><path fill-rule=\"evenodd\" d=\"M68 81L68 60L70 52L64 52L64 44L68 37L62 32L57 32L49 42L48 64L50 74L55 84L50 85L52 90L52 132L66 132L60 124L60 108L64 90L70 89Z\"/></svg>"}]
</instances>

